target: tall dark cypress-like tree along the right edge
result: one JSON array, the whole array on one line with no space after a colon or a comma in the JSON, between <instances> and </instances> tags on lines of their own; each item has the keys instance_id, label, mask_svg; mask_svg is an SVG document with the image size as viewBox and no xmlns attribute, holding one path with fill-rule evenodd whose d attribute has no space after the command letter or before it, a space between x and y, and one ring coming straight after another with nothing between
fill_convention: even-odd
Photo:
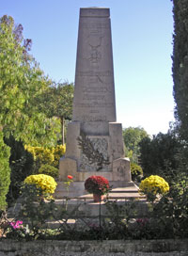
<instances>
[{"instance_id":1,"label":"tall dark cypress-like tree along the right edge","mask_svg":"<svg viewBox=\"0 0 188 256\"><path fill-rule=\"evenodd\" d=\"M174 48L173 81L175 116L179 121L180 135L188 141L188 1L173 0Z\"/></svg>"}]
</instances>

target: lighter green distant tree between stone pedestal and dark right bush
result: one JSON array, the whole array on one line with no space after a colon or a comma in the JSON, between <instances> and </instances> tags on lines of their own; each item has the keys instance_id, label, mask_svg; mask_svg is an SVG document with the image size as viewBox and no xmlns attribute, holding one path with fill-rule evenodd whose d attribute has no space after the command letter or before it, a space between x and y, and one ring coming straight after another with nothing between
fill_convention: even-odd
<instances>
[{"instance_id":1,"label":"lighter green distant tree between stone pedestal and dark right bush","mask_svg":"<svg viewBox=\"0 0 188 256\"><path fill-rule=\"evenodd\" d=\"M140 154L139 142L144 137L149 137L144 128L128 127L123 129L126 156L130 157L133 163L138 164L138 157Z\"/></svg>"}]
</instances>

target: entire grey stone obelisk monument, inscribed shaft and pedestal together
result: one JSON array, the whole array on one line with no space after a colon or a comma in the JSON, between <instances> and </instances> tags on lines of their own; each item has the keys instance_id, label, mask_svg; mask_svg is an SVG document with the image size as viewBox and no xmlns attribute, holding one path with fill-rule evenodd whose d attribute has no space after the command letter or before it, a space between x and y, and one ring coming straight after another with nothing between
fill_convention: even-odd
<instances>
[{"instance_id":1,"label":"entire grey stone obelisk monument, inscribed shaft and pedestal together","mask_svg":"<svg viewBox=\"0 0 188 256\"><path fill-rule=\"evenodd\" d=\"M102 175L114 187L131 182L124 158L121 124L116 118L109 8L80 8L73 116L68 126L60 180L72 175L75 193L84 193L91 175Z\"/></svg>"}]
</instances>

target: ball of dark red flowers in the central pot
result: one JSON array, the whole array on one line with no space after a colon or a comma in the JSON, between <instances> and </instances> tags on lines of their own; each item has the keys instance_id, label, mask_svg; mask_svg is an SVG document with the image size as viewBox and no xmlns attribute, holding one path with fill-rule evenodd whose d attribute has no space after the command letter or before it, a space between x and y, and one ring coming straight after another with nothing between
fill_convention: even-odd
<instances>
[{"instance_id":1,"label":"ball of dark red flowers in the central pot","mask_svg":"<svg viewBox=\"0 0 188 256\"><path fill-rule=\"evenodd\" d=\"M85 189L93 195L105 195L110 190L110 185L107 179L102 176L90 176L86 179Z\"/></svg>"}]
</instances>

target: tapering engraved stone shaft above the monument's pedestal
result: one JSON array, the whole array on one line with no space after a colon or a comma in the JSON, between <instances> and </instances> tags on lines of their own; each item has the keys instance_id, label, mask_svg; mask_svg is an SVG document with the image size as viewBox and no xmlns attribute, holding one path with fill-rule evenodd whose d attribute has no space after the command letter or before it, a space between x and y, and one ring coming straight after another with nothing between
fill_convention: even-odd
<instances>
[{"instance_id":1,"label":"tapering engraved stone shaft above the monument's pedestal","mask_svg":"<svg viewBox=\"0 0 188 256\"><path fill-rule=\"evenodd\" d=\"M109 8L81 8L72 120L116 121Z\"/></svg>"}]
</instances>

